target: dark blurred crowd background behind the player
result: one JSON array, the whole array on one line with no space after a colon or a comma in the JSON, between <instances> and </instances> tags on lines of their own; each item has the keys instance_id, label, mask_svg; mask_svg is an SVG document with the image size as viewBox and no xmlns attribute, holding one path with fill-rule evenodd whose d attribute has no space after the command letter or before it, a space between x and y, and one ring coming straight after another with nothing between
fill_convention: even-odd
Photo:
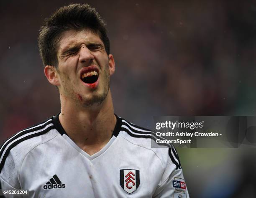
<instances>
[{"instance_id":1,"label":"dark blurred crowd background behind the player","mask_svg":"<svg viewBox=\"0 0 256 198\"><path fill-rule=\"evenodd\" d=\"M60 111L44 76L38 30L70 3L107 22L115 113L154 129L153 116L256 115L256 2L0 1L0 142ZM179 149L192 198L256 197L256 150Z\"/></svg>"}]
</instances>

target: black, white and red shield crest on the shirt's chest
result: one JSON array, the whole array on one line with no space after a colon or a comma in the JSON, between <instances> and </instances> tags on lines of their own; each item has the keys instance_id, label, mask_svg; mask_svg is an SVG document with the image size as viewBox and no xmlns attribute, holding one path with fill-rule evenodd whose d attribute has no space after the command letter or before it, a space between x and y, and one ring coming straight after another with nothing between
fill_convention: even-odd
<instances>
[{"instance_id":1,"label":"black, white and red shield crest on the shirt's chest","mask_svg":"<svg viewBox=\"0 0 256 198\"><path fill-rule=\"evenodd\" d=\"M132 169L121 169L120 185L126 193L133 193L140 185L140 171Z\"/></svg>"}]
</instances>

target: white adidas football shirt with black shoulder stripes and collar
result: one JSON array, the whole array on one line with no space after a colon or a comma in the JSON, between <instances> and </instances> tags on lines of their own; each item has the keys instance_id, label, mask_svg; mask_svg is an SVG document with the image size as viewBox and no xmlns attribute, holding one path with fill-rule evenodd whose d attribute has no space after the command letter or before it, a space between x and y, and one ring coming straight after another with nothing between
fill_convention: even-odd
<instances>
[{"instance_id":1,"label":"white adidas football shirt with black shoulder stripes and collar","mask_svg":"<svg viewBox=\"0 0 256 198\"><path fill-rule=\"evenodd\" d=\"M29 196L15 198L189 198L175 148L151 148L151 132L120 117L94 155L51 117L4 142L0 171L8 197L22 189Z\"/></svg>"}]
</instances>

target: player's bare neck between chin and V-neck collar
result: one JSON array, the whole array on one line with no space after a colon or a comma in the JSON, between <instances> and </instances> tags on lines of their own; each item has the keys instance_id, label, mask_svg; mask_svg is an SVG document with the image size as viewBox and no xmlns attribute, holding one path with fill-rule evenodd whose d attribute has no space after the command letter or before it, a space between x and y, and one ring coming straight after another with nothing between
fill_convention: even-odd
<instances>
[{"instance_id":1,"label":"player's bare neck between chin and V-neck collar","mask_svg":"<svg viewBox=\"0 0 256 198\"><path fill-rule=\"evenodd\" d=\"M59 121L69 137L89 155L98 152L110 140L116 117L110 91L97 107L78 107L61 98Z\"/></svg>"}]
</instances>

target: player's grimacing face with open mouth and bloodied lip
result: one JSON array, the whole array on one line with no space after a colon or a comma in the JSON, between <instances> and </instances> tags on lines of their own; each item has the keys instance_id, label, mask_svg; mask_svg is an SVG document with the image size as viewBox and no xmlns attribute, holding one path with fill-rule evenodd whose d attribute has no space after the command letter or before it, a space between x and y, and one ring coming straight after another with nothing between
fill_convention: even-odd
<instances>
[{"instance_id":1,"label":"player's grimacing face with open mouth and bloodied lip","mask_svg":"<svg viewBox=\"0 0 256 198\"><path fill-rule=\"evenodd\" d=\"M59 92L75 104L101 104L110 87L115 63L100 37L90 30L68 30L59 41L56 76Z\"/></svg>"}]
</instances>

